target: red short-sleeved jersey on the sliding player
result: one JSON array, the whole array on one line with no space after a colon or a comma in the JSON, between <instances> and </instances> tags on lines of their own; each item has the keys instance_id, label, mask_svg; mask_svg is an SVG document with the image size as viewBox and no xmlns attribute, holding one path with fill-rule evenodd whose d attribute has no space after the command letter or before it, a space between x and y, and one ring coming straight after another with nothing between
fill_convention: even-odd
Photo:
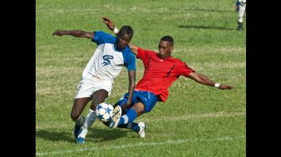
<instances>
[{"instance_id":1,"label":"red short-sleeved jersey on the sliding player","mask_svg":"<svg viewBox=\"0 0 281 157\"><path fill-rule=\"evenodd\" d=\"M169 95L168 88L180 76L188 76L193 69L188 68L180 59L169 57L161 59L154 51L143 50L138 47L138 59L143 60L145 72L138 81L135 89L154 93L159 101L166 101Z\"/></svg>"}]
</instances>

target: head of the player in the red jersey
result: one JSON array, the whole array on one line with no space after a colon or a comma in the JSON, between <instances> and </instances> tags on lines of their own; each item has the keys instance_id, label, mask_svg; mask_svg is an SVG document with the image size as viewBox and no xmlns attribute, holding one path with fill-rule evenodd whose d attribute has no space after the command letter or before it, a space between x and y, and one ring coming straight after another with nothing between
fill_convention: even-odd
<instances>
[{"instance_id":1,"label":"head of the player in the red jersey","mask_svg":"<svg viewBox=\"0 0 281 157\"><path fill-rule=\"evenodd\" d=\"M173 38L169 35L162 37L160 39L158 49L161 58L171 57L171 53L173 51Z\"/></svg>"}]
</instances>

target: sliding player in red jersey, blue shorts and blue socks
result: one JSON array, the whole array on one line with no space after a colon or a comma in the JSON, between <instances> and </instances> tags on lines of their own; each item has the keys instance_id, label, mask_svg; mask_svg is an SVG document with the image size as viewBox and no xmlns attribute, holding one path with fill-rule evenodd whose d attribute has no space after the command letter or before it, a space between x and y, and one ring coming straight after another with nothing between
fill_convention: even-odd
<instances>
[{"instance_id":1,"label":"sliding player in red jersey, blue shorts and blue socks","mask_svg":"<svg viewBox=\"0 0 281 157\"><path fill-rule=\"evenodd\" d=\"M109 18L103 18L109 29L118 33L118 29L114 27ZM198 74L195 70L186 66L186 63L180 59L175 59L171 56L173 51L173 38L167 35L160 39L158 50L145 50L138 46L129 44L136 58L143 61L145 72L143 78L138 81L130 106L126 104L128 94L124 94L123 98L115 105L121 106L122 116L116 122L108 124L110 128L130 128L138 133L140 137L145 137L145 123L134 123L136 117L147 113L154 108L156 102L165 102L168 98L168 88L173 81L176 81L180 76L185 76L193 79L197 83L217 87L219 89L232 89L230 85L221 85L211 81L207 76Z\"/></svg>"}]
</instances>

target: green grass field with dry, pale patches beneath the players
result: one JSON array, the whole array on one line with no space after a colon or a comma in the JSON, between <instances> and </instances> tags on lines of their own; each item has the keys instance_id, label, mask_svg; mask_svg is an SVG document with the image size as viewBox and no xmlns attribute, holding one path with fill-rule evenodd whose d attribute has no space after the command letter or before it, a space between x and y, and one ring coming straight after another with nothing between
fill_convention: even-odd
<instances>
[{"instance_id":1,"label":"green grass field with dry, pale patches beneath the players","mask_svg":"<svg viewBox=\"0 0 281 157\"><path fill-rule=\"evenodd\" d=\"M246 35L236 31L236 1L36 1L36 156L245 156ZM85 145L77 145L70 112L77 83L97 45L84 38L52 37L56 29L109 31L131 25L132 44L158 51L164 35L175 41L173 57L213 81L219 90L180 77L167 102L136 119L146 122L145 139L96 121ZM244 15L244 28L245 17ZM136 81L143 76L137 60ZM127 91L125 68L107 102ZM88 106L84 115L88 112Z\"/></svg>"}]
</instances>

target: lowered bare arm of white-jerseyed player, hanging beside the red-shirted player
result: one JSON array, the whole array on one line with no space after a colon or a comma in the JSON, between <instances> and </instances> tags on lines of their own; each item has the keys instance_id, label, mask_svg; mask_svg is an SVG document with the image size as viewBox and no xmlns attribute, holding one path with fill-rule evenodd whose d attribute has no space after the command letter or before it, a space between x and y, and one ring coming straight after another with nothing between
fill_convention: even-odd
<instances>
[{"instance_id":1,"label":"lowered bare arm of white-jerseyed player, hanging beside the red-shirted player","mask_svg":"<svg viewBox=\"0 0 281 157\"><path fill-rule=\"evenodd\" d=\"M122 109L123 111L125 111L125 109L131 106L131 102L134 94L134 86L136 83L136 71L130 70L128 72L128 76L129 76L129 89L128 89L129 98L127 98L127 104L123 105L123 109Z\"/></svg>"}]
</instances>

